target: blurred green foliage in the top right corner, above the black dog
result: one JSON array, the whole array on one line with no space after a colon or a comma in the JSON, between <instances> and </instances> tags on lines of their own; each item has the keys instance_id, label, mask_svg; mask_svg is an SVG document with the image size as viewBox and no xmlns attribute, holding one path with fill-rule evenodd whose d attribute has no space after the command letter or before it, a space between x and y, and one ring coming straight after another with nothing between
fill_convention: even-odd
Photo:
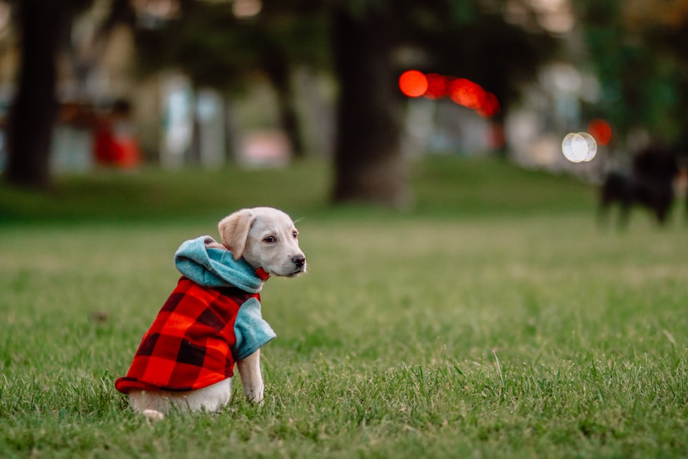
<instances>
[{"instance_id":1,"label":"blurred green foliage in the top right corner, above the black dog","mask_svg":"<svg viewBox=\"0 0 688 459\"><path fill-rule=\"evenodd\" d=\"M685 141L688 15L678 9L667 16L665 0L583 0L579 6L586 58L601 85L590 114L610 120L622 138L645 128L656 140Z\"/></svg>"}]
</instances>

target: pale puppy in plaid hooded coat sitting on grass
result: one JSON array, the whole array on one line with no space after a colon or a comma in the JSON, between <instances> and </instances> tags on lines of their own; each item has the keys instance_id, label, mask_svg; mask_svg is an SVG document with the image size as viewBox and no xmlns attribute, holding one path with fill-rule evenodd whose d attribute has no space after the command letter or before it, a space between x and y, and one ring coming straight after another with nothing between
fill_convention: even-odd
<instances>
[{"instance_id":1,"label":"pale puppy in plaid hooded coat sitting on grass","mask_svg":"<svg viewBox=\"0 0 688 459\"><path fill-rule=\"evenodd\" d=\"M259 292L270 275L305 273L305 255L291 218L277 209L241 209L217 227L222 243L197 237L175 253L178 286L115 382L147 418L219 412L231 398L234 363L248 400L263 401L260 348L276 335L261 317Z\"/></svg>"}]
</instances>

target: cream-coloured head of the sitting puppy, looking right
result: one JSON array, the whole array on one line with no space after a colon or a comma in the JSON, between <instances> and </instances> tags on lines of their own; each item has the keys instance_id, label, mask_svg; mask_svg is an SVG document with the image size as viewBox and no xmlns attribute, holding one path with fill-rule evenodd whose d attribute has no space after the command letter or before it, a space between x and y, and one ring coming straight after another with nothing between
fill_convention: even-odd
<instances>
[{"instance_id":1,"label":"cream-coloured head of the sitting puppy, looking right","mask_svg":"<svg viewBox=\"0 0 688 459\"><path fill-rule=\"evenodd\" d=\"M244 257L252 268L268 274L293 277L306 271L299 248L299 232L286 213L272 207L241 209L217 225L222 244L234 259Z\"/></svg>"}]
</instances>

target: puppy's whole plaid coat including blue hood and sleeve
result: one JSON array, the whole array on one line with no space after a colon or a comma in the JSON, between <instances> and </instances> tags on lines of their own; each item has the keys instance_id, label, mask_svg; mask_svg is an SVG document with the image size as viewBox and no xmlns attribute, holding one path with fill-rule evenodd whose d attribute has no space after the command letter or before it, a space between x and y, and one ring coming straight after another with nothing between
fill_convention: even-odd
<instances>
[{"instance_id":1,"label":"puppy's whole plaid coat including blue hood and sleeve","mask_svg":"<svg viewBox=\"0 0 688 459\"><path fill-rule=\"evenodd\" d=\"M184 264L191 259L197 268L199 259L202 263L215 259L238 271L235 274L241 282L237 284L243 282L243 288L229 284L232 276L226 272L218 276L224 279L219 284L224 282L225 286L206 286L182 276L144 334L127 376L115 382L119 392L181 392L208 387L233 376L235 361L246 359L275 338L275 332L261 317L259 292L246 291L260 290L266 277L247 272L248 265L234 261L231 253L227 257L227 250L206 248L206 242L207 237L187 241L186 247L182 244L175 254L182 274L191 273L196 279L213 284L214 281L208 281L206 270L200 270L203 275L199 277ZM191 257L187 256L189 253ZM217 275L218 270L214 271L213 275Z\"/></svg>"}]
</instances>

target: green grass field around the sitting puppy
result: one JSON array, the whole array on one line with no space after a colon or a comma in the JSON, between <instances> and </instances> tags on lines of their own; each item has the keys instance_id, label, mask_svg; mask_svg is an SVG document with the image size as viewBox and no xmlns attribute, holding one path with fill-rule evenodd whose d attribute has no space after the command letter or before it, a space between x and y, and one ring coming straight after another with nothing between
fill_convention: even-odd
<instances>
[{"instance_id":1,"label":"green grass field around the sitting puppy","mask_svg":"<svg viewBox=\"0 0 688 459\"><path fill-rule=\"evenodd\" d=\"M330 207L330 171L100 172L0 186L2 458L688 457L688 226L601 230L592 186L415 164L413 209ZM262 407L148 423L113 387L184 239L302 219L270 279Z\"/></svg>"}]
</instances>

